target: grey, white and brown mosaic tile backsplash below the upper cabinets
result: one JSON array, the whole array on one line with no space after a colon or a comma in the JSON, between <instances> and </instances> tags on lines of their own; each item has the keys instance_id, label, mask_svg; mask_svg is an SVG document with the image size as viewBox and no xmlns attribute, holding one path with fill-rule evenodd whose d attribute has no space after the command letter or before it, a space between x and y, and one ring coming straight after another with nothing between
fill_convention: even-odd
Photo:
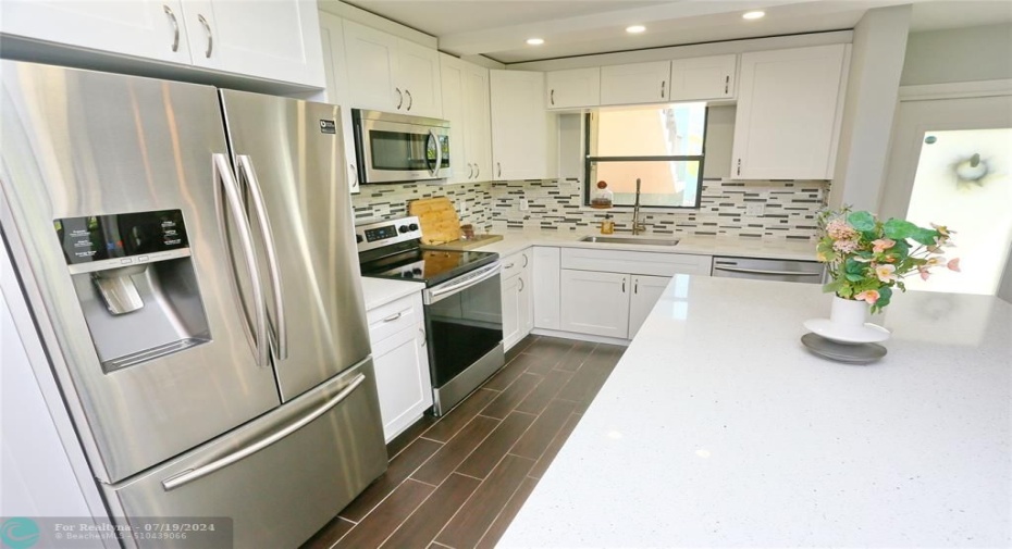
<instances>
[{"instance_id":1,"label":"grey, white and brown mosaic tile backsplash below the upper cabinets","mask_svg":"<svg viewBox=\"0 0 1012 549\"><path fill-rule=\"evenodd\" d=\"M592 210L582 205L578 179L545 179L460 185L367 185L351 198L355 223L402 217L408 202L446 196L457 207L461 223L478 232L540 228L593 232L606 213L617 232L631 232L632 209ZM744 238L815 237L815 214L826 204L828 182L704 180L699 210L641 210L646 233L658 235L731 236ZM520 210L526 198L528 209ZM762 215L750 215L749 204Z\"/></svg>"}]
</instances>

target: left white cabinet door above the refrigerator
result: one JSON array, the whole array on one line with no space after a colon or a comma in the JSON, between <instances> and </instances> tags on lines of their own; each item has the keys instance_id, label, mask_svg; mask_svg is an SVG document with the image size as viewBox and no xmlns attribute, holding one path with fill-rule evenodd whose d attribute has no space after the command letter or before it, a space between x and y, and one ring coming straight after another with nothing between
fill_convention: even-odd
<instances>
[{"instance_id":1,"label":"left white cabinet door above the refrigerator","mask_svg":"<svg viewBox=\"0 0 1012 549\"><path fill-rule=\"evenodd\" d=\"M7 1L0 29L78 48L190 64L180 0Z\"/></svg>"}]
</instances>

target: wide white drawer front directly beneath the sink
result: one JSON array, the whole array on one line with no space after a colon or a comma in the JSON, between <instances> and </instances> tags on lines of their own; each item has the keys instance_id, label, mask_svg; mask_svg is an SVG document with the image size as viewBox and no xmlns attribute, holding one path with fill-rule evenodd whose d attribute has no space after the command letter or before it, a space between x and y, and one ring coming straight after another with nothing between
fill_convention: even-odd
<instances>
[{"instance_id":1,"label":"wide white drawer front directly beneath the sink","mask_svg":"<svg viewBox=\"0 0 1012 549\"><path fill-rule=\"evenodd\" d=\"M561 258L563 269L654 276L708 275L709 266L709 255L686 253L564 248Z\"/></svg>"}]
</instances>

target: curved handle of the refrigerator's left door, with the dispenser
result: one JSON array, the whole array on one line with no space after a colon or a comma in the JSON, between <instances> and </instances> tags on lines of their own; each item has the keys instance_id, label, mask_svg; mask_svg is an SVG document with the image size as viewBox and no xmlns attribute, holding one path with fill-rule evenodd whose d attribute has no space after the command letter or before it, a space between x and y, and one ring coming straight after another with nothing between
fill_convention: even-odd
<instances>
[{"instance_id":1,"label":"curved handle of the refrigerator's left door, with the dispenser","mask_svg":"<svg viewBox=\"0 0 1012 549\"><path fill-rule=\"evenodd\" d=\"M218 191L225 191L226 203L236 219L238 225L239 240L243 245L243 258L246 260L246 269L249 270L249 278L252 282L254 309L256 310L254 344L257 351L257 365L270 366L270 347L267 341L267 307L263 301L263 286L260 284L260 271L257 269L257 252L252 245L252 232L249 229L249 219L246 217L246 211L243 208L243 199L239 196L239 185L232 175L232 165L229 158L223 153L215 152L211 154L214 164L214 174ZM222 223L226 223L222 219Z\"/></svg>"}]
</instances>

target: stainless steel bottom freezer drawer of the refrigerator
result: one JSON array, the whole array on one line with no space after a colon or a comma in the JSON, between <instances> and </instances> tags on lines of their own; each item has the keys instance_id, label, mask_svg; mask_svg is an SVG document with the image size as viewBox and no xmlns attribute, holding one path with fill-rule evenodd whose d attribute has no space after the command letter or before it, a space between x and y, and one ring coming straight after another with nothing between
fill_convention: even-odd
<instances>
[{"instance_id":1,"label":"stainless steel bottom freezer drawer of the refrigerator","mask_svg":"<svg viewBox=\"0 0 1012 549\"><path fill-rule=\"evenodd\" d=\"M235 433L104 488L128 517L231 517L233 547L297 547L386 461L369 359Z\"/></svg>"}]
</instances>

